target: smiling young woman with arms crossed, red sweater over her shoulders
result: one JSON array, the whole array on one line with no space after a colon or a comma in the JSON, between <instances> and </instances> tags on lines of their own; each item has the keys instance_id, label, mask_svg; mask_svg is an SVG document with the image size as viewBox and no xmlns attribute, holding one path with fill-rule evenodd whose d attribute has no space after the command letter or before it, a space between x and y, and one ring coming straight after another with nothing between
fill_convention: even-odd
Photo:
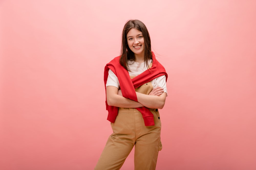
<instances>
[{"instance_id":1,"label":"smiling young woman with arms crossed, red sweater over her shoulders","mask_svg":"<svg viewBox=\"0 0 256 170\"><path fill-rule=\"evenodd\" d=\"M135 146L134 169L155 169L162 109L167 96L167 74L151 51L144 23L129 20L123 28L121 55L104 71L106 109L113 133L95 169L120 169Z\"/></svg>"}]
</instances>

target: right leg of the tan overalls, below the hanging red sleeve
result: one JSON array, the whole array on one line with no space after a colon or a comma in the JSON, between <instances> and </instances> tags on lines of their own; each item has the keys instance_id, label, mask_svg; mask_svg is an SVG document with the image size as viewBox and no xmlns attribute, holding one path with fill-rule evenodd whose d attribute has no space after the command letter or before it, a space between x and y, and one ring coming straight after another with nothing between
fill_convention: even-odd
<instances>
[{"instance_id":1,"label":"right leg of the tan overalls, below the hanging red sleeve","mask_svg":"<svg viewBox=\"0 0 256 170\"><path fill-rule=\"evenodd\" d=\"M150 109L154 114L154 126L145 126L141 117L142 130L135 143L134 169L154 170L160 145L161 121L158 119L159 112Z\"/></svg>"}]
</instances>

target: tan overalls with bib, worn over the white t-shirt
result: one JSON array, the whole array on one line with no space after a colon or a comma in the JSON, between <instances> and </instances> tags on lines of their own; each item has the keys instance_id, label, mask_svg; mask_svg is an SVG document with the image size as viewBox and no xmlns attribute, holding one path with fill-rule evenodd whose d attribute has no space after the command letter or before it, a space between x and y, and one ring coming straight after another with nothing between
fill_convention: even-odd
<instances>
[{"instance_id":1,"label":"tan overalls with bib, worn over the white t-shirt","mask_svg":"<svg viewBox=\"0 0 256 170\"><path fill-rule=\"evenodd\" d=\"M130 76L131 79L135 76ZM135 89L149 94L153 89L151 82ZM150 109L154 114L154 126L145 126L142 114L135 108L119 108L115 123L111 123L113 133L109 136L95 170L120 169L135 145L134 169L155 169L160 141L161 121L158 109Z\"/></svg>"}]
</instances>

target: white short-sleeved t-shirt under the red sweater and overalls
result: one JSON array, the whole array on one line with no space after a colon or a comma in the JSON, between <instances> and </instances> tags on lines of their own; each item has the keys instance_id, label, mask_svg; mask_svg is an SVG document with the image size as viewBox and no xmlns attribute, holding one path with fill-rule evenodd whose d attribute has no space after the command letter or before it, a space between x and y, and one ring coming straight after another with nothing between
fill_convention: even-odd
<instances>
[{"instance_id":1,"label":"white short-sleeved t-shirt under the red sweater and overalls","mask_svg":"<svg viewBox=\"0 0 256 170\"><path fill-rule=\"evenodd\" d=\"M152 62L152 60L149 60L148 65L150 65L151 62ZM146 66L145 62L138 63L135 61L128 60L128 65L129 65L130 70L132 71L132 72L128 71L130 76L137 76L147 70L147 66ZM151 81L151 83L153 85L153 88L162 87L164 89L164 92L167 94L165 75L162 75L162 76L159 76L159 77L153 79ZM109 75L108 75L106 86L115 86L117 88L120 87L118 78L113 73L113 71L111 71L110 69L109 69Z\"/></svg>"}]
</instances>

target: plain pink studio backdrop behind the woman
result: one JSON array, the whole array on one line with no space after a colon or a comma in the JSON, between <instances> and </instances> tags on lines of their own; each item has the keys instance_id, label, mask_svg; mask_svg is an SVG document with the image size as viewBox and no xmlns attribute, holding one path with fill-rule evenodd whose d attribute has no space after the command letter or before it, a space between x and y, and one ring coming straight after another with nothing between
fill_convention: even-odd
<instances>
[{"instance_id":1,"label":"plain pink studio backdrop behind the woman","mask_svg":"<svg viewBox=\"0 0 256 170\"><path fill-rule=\"evenodd\" d=\"M169 75L158 170L256 169L256 1L0 1L0 169L93 169L128 19ZM122 170L133 169L133 155Z\"/></svg>"}]
</instances>

